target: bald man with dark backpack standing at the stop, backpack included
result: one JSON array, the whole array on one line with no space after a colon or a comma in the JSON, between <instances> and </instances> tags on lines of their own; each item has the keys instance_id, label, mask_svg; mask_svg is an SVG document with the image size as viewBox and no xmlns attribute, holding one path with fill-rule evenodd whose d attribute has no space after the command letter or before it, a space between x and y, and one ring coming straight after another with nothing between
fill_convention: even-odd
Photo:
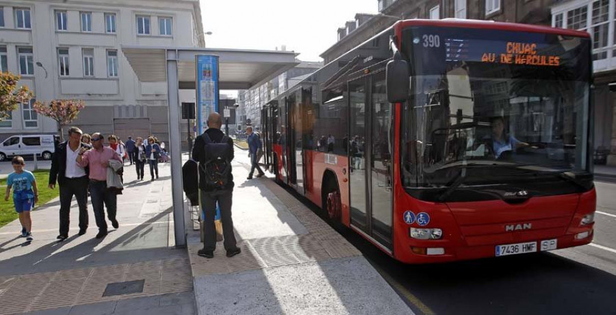
<instances>
[{"instance_id":1,"label":"bald man with dark backpack standing at the stop, backpack included","mask_svg":"<svg viewBox=\"0 0 616 315\"><path fill-rule=\"evenodd\" d=\"M195 139L192 148L192 158L199 162L199 194L201 194L201 209L205 212L205 242L198 255L206 258L214 257L216 249L214 216L216 216L217 202L220 205L222 236L227 257L233 257L241 252L233 234L231 218L233 140L220 131L221 126L220 114L216 112L210 114L207 118L209 128Z\"/></svg>"}]
</instances>

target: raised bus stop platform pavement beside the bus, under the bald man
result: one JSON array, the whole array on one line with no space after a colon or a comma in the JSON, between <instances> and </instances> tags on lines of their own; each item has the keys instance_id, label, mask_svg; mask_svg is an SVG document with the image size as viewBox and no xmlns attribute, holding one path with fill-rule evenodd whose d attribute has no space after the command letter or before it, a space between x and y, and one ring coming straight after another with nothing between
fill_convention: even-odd
<instances>
[{"instance_id":1,"label":"raised bus stop platform pavement beside the bus, under the bald man","mask_svg":"<svg viewBox=\"0 0 616 315\"><path fill-rule=\"evenodd\" d=\"M246 180L235 150L233 223L242 253L188 242L198 314L413 314L361 253L270 178Z\"/></svg>"}]
</instances>

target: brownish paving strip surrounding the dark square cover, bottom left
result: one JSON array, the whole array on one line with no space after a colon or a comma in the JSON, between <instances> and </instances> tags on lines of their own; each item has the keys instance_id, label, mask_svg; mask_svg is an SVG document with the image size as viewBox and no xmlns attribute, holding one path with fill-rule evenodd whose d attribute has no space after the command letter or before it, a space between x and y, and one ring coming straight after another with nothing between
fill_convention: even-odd
<instances>
[{"instance_id":1,"label":"brownish paving strip surrounding the dark square cover, bottom left","mask_svg":"<svg viewBox=\"0 0 616 315\"><path fill-rule=\"evenodd\" d=\"M0 277L0 314L191 291L189 264L187 258L174 258ZM103 297L109 283L140 279L143 292Z\"/></svg>"}]
</instances>

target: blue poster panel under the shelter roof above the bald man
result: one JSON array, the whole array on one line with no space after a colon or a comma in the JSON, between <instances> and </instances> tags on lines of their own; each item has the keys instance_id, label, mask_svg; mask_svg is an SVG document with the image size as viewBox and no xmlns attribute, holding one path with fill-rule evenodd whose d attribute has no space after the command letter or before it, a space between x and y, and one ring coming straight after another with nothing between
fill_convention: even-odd
<instances>
[{"instance_id":1,"label":"blue poster panel under the shelter roof above the bald man","mask_svg":"<svg viewBox=\"0 0 616 315\"><path fill-rule=\"evenodd\" d=\"M196 55L197 133L207 129L207 117L218 111L218 56Z\"/></svg>"}]
</instances>

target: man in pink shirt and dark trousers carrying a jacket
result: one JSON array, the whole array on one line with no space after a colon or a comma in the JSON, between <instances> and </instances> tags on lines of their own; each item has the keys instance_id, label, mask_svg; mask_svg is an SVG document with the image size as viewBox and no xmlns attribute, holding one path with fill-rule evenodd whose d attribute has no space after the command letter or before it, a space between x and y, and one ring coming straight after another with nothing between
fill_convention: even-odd
<instances>
[{"instance_id":1,"label":"man in pink shirt and dark trousers carrying a jacket","mask_svg":"<svg viewBox=\"0 0 616 315\"><path fill-rule=\"evenodd\" d=\"M81 167L90 167L90 198L94 208L94 217L97 219L99 234L97 238L107 236L107 221L105 221L105 205L107 205L107 217L114 228L118 228L116 220L117 194L107 189L107 167L109 160L122 162L120 155L111 148L103 147L105 137L100 134L92 134L92 150L81 148L77 155L77 164Z\"/></svg>"}]
</instances>

